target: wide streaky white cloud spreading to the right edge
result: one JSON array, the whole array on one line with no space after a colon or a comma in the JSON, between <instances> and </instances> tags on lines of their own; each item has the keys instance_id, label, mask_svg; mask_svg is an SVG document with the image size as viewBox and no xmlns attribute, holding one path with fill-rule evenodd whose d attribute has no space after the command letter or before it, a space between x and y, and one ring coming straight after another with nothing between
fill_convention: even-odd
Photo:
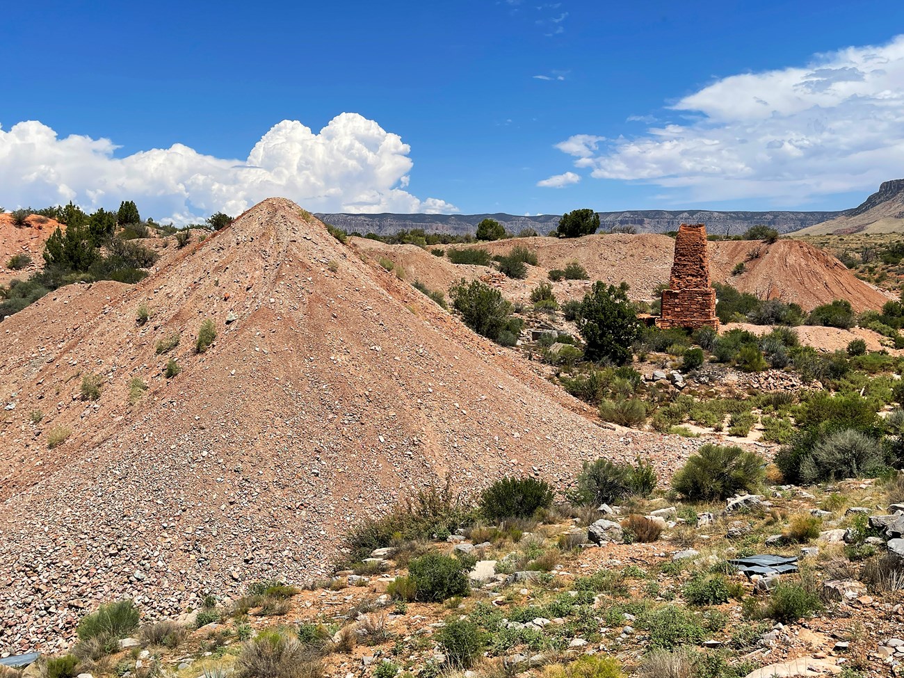
<instances>
[{"instance_id":1,"label":"wide streaky white cloud spreading to the right edge","mask_svg":"<svg viewBox=\"0 0 904 678\"><path fill-rule=\"evenodd\" d=\"M558 147L592 176L673 189L674 201L776 204L869 191L904 175L904 35L818 54L805 66L733 75L670 107L683 122Z\"/></svg>"}]
</instances>

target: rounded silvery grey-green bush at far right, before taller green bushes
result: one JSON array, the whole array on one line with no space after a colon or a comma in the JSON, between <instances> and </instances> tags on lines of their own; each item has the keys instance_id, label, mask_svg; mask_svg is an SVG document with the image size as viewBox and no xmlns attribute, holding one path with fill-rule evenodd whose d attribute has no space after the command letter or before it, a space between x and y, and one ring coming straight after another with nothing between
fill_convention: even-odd
<instances>
[{"instance_id":1,"label":"rounded silvery grey-green bush at far right, before taller green bushes","mask_svg":"<svg viewBox=\"0 0 904 678\"><path fill-rule=\"evenodd\" d=\"M845 428L817 441L813 451L801 458L800 478L805 483L819 483L875 475L884 467L880 442Z\"/></svg>"}]
</instances>

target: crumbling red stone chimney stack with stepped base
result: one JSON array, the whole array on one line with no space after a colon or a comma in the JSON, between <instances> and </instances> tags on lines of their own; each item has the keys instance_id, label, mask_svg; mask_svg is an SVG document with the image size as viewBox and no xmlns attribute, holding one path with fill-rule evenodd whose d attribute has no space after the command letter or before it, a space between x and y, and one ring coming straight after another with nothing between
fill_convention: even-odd
<instances>
[{"instance_id":1,"label":"crumbling red stone chimney stack with stepped base","mask_svg":"<svg viewBox=\"0 0 904 678\"><path fill-rule=\"evenodd\" d=\"M718 328L716 290L710 284L710 258L706 250L706 226L683 223L675 239L675 258L669 288L663 290L660 327L704 325Z\"/></svg>"}]
</instances>

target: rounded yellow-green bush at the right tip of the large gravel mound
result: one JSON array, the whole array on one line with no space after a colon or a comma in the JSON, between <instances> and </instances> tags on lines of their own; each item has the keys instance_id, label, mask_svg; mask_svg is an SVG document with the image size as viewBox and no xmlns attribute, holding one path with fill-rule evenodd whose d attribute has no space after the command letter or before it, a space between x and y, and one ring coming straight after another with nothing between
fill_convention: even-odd
<instances>
[{"instance_id":1,"label":"rounded yellow-green bush at the right tip of the large gravel mound","mask_svg":"<svg viewBox=\"0 0 904 678\"><path fill-rule=\"evenodd\" d=\"M727 499L762 482L766 461L740 447L707 444L674 475L673 488L692 501Z\"/></svg>"}]
</instances>

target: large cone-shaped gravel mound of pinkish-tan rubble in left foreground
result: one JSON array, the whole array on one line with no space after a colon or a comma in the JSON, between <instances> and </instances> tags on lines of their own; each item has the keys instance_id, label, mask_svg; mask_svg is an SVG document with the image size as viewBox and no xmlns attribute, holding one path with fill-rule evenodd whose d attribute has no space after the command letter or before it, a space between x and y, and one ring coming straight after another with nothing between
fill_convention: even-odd
<instances>
[{"instance_id":1,"label":"large cone-shaped gravel mound of pinkish-tan rubble in left foreground","mask_svg":"<svg viewBox=\"0 0 904 678\"><path fill-rule=\"evenodd\" d=\"M203 591L313 578L351 524L447 476L563 486L643 453L667 477L692 447L599 428L282 199L3 332L0 651L65 641L104 600L174 616Z\"/></svg>"}]
</instances>

